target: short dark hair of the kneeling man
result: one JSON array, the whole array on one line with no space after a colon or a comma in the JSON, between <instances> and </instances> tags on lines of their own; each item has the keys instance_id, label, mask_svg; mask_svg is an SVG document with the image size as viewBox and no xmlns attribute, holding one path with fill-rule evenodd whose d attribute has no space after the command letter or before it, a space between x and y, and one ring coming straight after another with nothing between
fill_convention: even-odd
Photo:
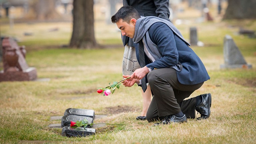
<instances>
[{"instance_id":1,"label":"short dark hair of the kneeling man","mask_svg":"<svg viewBox=\"0 0 256 144\"><path fill-rule=\"evenodd\" d=\"M120 19L123 19L124 22L130 23L132 18L135 18L136 20L139 19L139 12L131 6L123 6L111 17L111 21L112 23L116 23Z\"/></svg>"}]
</instances>

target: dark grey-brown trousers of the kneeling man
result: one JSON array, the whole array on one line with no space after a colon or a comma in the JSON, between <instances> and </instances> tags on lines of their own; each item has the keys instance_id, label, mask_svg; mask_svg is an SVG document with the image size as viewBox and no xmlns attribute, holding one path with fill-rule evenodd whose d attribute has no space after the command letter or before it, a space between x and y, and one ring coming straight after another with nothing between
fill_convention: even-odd
<instances>
[{"instance_id":1,"label":"dark grey-brown trousers of the kneeling man","mask_svg":"<svg viewBox=\"0 0 256 144\"><path fill-rule=\"evenodd\" d=\"M202 83L184 85L177 79L177 72L173 68L152 70L147 75L153 98L147 111L147 120L162 120L165 116L182 111L187 118L195 118L196 97L184 100Z\"/></svg>"}]
</instances>

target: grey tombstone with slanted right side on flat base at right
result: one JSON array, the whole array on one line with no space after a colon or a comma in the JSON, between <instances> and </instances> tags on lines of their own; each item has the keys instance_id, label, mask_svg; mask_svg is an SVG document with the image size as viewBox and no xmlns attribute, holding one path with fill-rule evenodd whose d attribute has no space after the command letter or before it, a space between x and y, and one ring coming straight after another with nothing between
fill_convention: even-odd
<instances>
[{"instance_id":1,"label":"grey tombstone with slanted right side on flat base at right","mask_svg":"<svg viewBox=\"0 0 256 144\"><path fill-rule=\"evenodd\" d=\"M230 35L226 35L224 38L223 53L225 63L220 68L252 68L252 65L246 63Z\"/></svg>"}]
</instances>

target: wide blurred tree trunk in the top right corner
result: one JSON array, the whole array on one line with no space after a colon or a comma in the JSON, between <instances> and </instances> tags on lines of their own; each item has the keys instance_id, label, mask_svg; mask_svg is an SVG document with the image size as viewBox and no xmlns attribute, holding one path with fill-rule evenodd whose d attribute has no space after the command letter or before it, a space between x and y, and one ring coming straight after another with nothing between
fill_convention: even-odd
<instances>
[{"instance_id":1,"label":"wide blurred tree trunk in the top right corner","mask_svg":"<svg viewBox=\"0 0 256 144\"><path fill-rule=\"evenodd\" d=\"M228 0L223 19L256 18L256 0Z\"/></svg>"}]
</instances>

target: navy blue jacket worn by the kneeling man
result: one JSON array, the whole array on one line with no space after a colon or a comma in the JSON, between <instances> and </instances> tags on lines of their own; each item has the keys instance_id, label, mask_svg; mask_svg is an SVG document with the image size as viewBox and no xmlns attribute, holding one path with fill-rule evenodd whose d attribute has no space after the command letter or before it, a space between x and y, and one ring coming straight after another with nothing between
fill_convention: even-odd
<instances>
[{"instance_id":1,"label":"navy blue jacket worn by the kneeling man","mask_svg":"<svg viewBox=\"0 0 256 144\"><path fill-rule=\"evenodd\" d=\"M141 28L144 28L144 26ZM148 68L151 68L151 70L168 68L179 63L182 68L181 71L177 71L177 78L181 84L194 85L210 79L204 64L196 53L165 23L153 23L146 31L149 34L149 38L146 40L155 44L162 55L154 62L146 60ZM135 30L135 35L136 32L138 30ZM140 41L142 41L142 38ZM136 54L138 54L139 43L135 43L135 48ZM140 62L138 55L137 59Z\"/></svg>"}]
</instances>

